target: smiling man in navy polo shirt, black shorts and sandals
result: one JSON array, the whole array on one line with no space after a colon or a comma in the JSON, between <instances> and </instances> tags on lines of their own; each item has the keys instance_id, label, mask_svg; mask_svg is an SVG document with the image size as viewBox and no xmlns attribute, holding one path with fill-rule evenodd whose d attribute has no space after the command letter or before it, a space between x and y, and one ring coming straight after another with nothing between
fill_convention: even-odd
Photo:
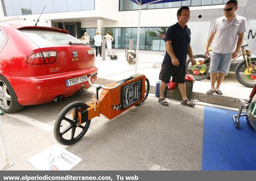
<instances>
[{"instance_id":1,"label":"smiling man in navy polo shirt, black shorts and sandals","mask_svg":"<svg viewBox=\"0 0 256 181\"><path fill-rule=\"evenodd\" d=\"M170 82L178 83L182 96L181 104L187 106L195 106L195 103L190 102L186 95L186 61L187 55L191 60L191 64L195 65L196 60L193 58L192 49L190 46L190 29L186 25L190 18L190 11L187 6L182 6L177 12L178 23L170 26L165 35L166 54L159 74L160 96L158 102L162 105L169 105L164 99L164 90L166 84Z\"/></svg>"}]
</instances>

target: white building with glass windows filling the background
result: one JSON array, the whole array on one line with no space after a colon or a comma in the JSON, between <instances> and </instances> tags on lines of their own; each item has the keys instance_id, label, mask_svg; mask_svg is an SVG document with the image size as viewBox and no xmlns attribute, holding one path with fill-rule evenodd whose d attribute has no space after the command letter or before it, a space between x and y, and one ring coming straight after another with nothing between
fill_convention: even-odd
<instances>
[{"instance_id":1,"label":"white building with glass windows filling the background","mask_svg":"<svg viewBox=\"0 0 256 181\"><path fill-rule=\"evenodd\" d=\"M185 5L191 11L188 27L193 52L202 53L213 21L224 15L227 1L187 0L143 6L139 49L164 51L165 31L177 22L177 11ZM96 31L105 34L109 30L114 37L113 48L129 48L131 38L134 39L133 48L136 47L139 6L130 0L2 0L0 21L12 19L12 23L16 19L15 23L34 25L43 9L38 26L63 28L77 38L84 32L93 37ZM238 0L236 12L248 21L249 45L256 54L255 9L255 0ZM202 18L198 18L199 15Z\"/></svg>"}]
</instances>

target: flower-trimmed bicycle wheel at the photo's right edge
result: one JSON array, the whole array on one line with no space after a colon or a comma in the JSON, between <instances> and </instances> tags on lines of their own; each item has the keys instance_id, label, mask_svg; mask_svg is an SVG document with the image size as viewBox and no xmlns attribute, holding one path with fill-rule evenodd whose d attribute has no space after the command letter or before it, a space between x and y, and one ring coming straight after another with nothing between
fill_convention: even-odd
<instances>
[{"instance_id":1,"label":"flower-trimmed bicycle wheel at the photo's right edge","mask_svg":"<svg viewBox=\"0 0 256 181\"><path fill-rule=\"evenodd\" d=\"M248 72L245 60L238 64L235 70L236 80L245 87L254 87L256 83L256 58L252 58L251 62L253 66L252 73Z\"/></svg>"}]
</instances>

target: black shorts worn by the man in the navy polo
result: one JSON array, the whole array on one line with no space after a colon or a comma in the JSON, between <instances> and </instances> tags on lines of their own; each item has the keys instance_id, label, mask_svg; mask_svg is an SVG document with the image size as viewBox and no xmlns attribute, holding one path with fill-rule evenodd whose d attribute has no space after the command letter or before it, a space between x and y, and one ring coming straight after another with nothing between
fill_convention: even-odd
<instances>
[{"instance_id":1,"label":"black shorts worn by the man in the navy polo","mask_svg":"<svg viewBox=\"0 0 256 181\"><path fill-rule=\"evenodd\" d=\"M159 80L169 83L172 77L172 82L185 83L186 67L185 65L174 66L172 64L163 63L159 74Z\"/></svg>"}]
</instances>

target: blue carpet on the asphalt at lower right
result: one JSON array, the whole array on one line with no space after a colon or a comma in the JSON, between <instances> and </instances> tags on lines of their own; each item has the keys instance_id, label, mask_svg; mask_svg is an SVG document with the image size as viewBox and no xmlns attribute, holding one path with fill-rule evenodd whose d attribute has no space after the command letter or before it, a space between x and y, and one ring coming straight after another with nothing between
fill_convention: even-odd
<instances>
[{"instance_id":1,"label":"blue carpet on the asphalt at lower right","mask_svg":"<svg viewBox=\"0 0 256 181\"><path fill-rule=\"evenodd\" d=\"M236 111L204 106L202 170L256 170L256 131Z\"/></svg>"}]
</instances>

